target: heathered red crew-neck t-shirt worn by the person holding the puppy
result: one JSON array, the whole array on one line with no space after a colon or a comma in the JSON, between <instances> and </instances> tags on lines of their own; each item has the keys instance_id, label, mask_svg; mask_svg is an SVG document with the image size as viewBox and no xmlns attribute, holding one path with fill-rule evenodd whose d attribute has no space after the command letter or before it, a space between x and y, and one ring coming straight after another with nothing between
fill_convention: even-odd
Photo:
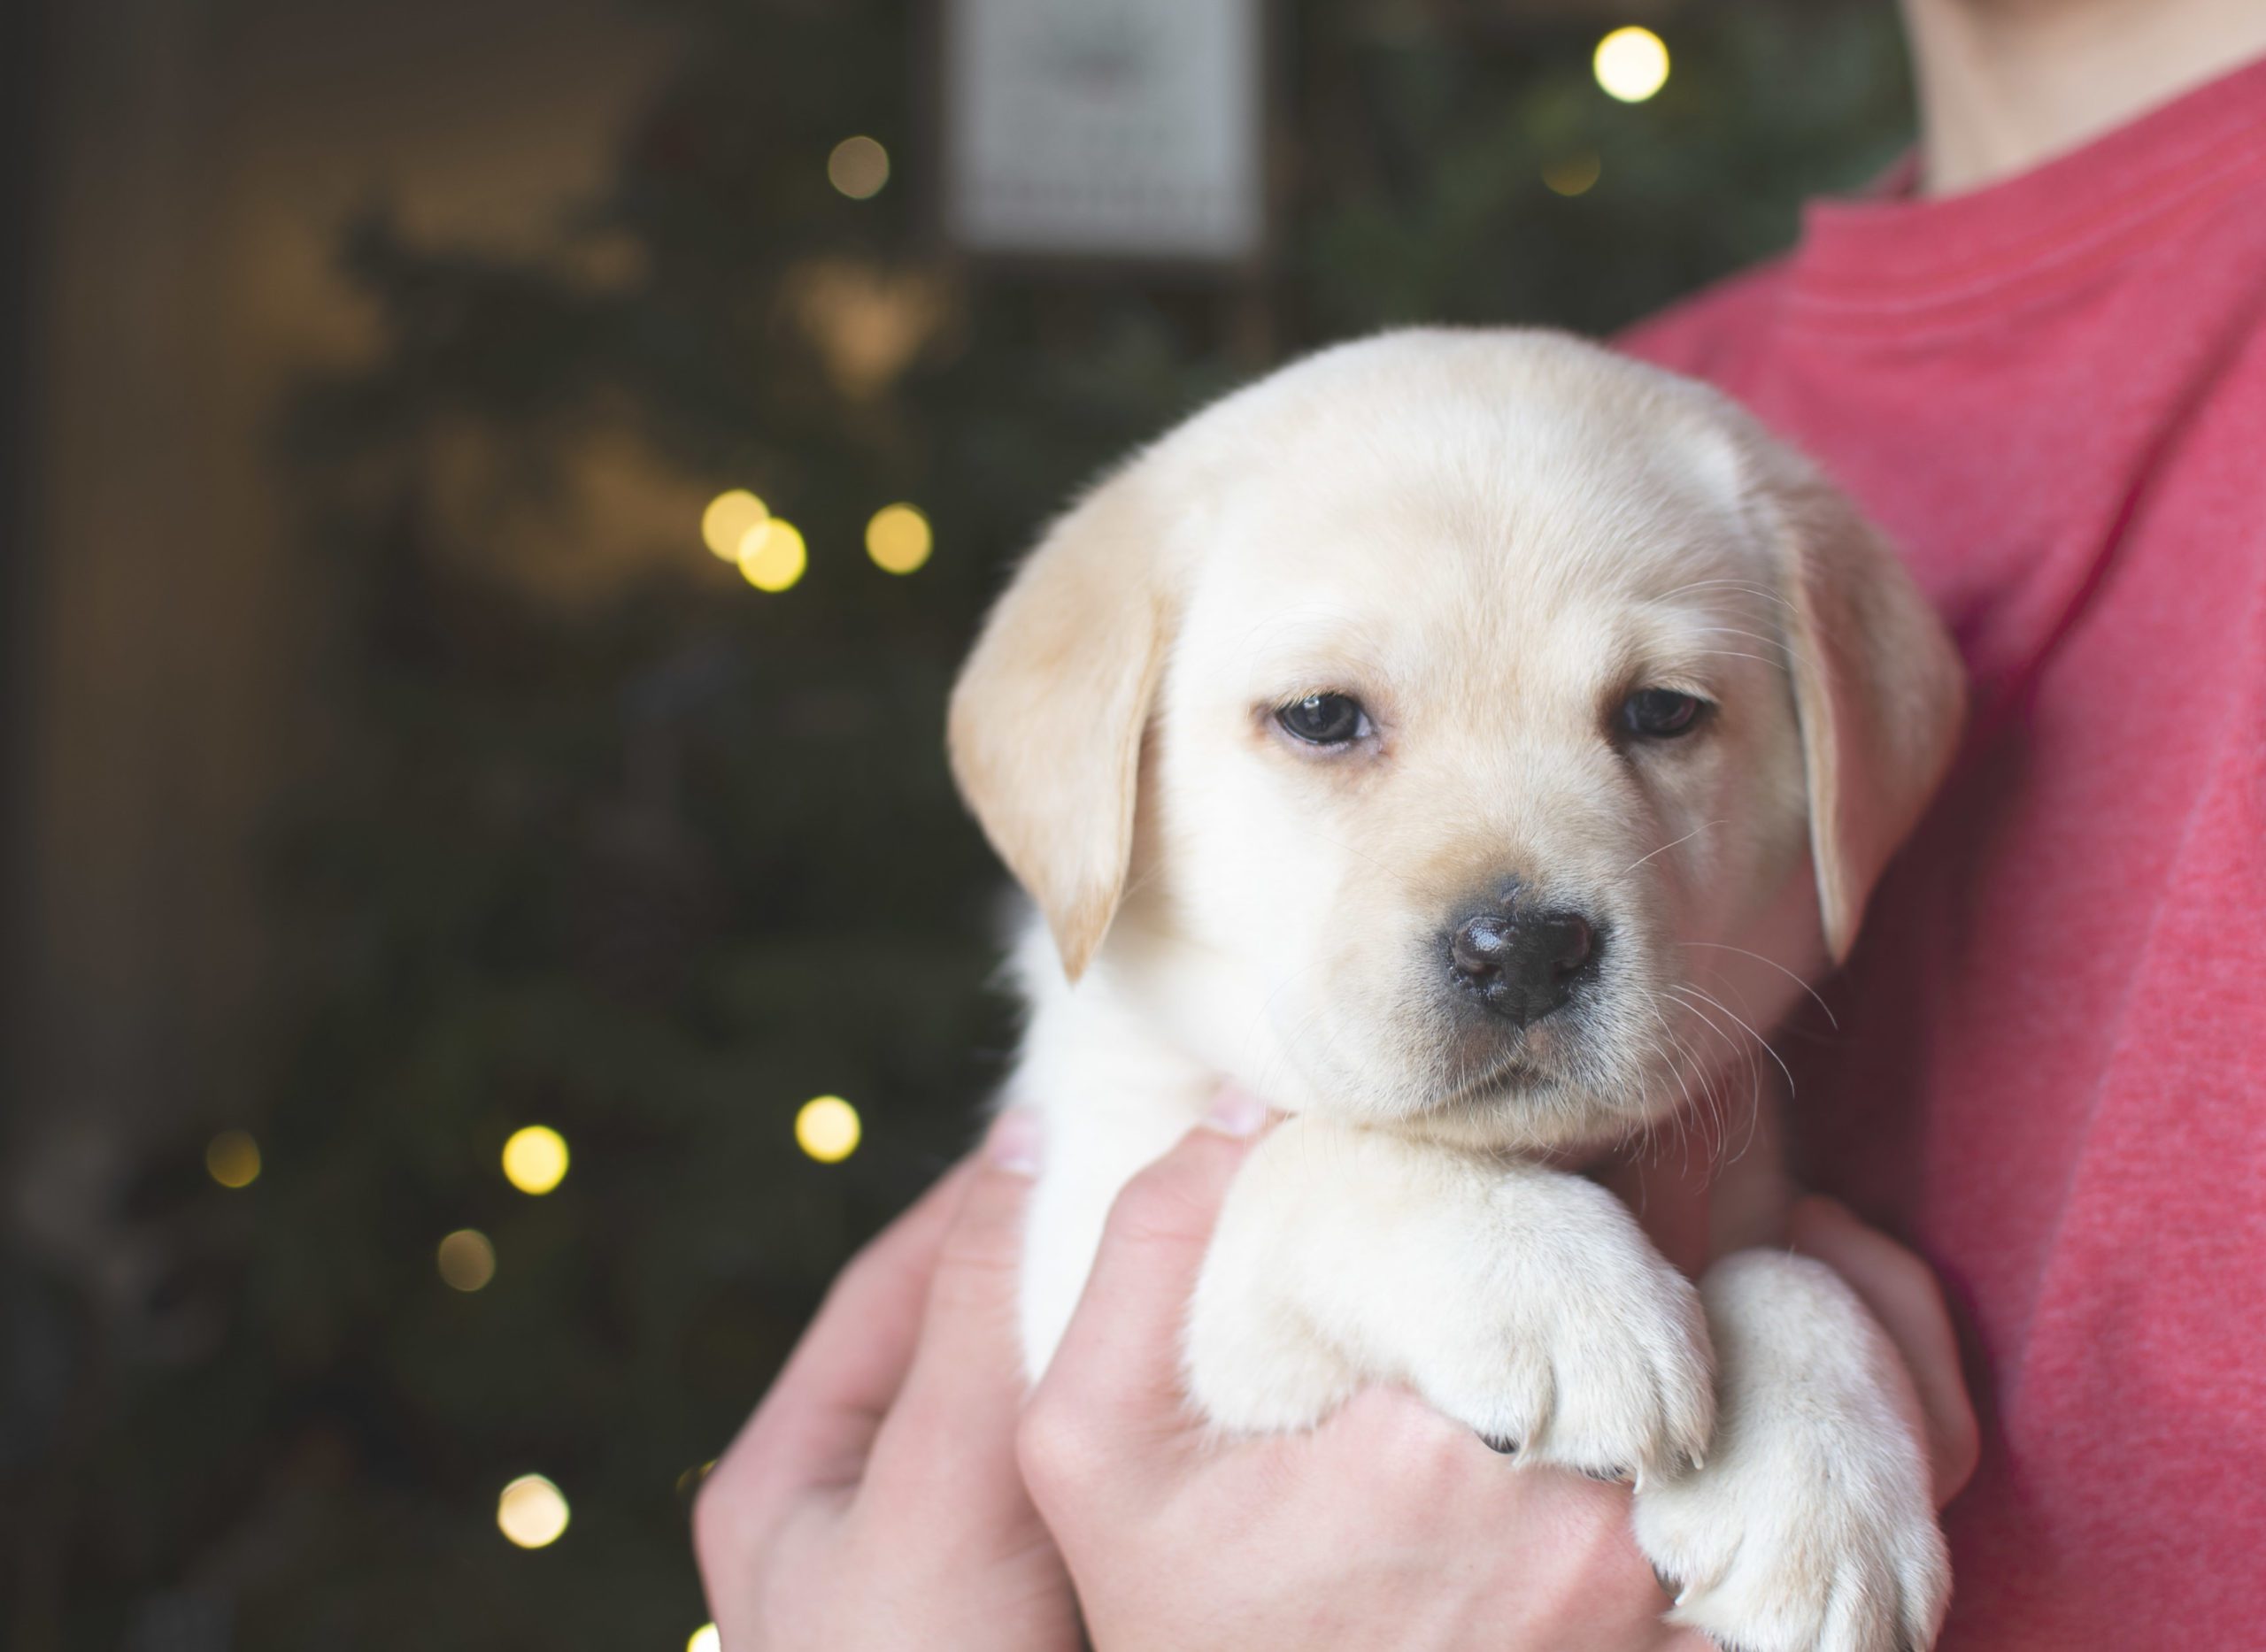
<instances>
[{"instance_id":1,"label":"heathered red crew-neck t-shirt worn by the person holding the puppy","mask_svg":"<svg viewBox=\"0 0 2266 1652\"><path fill-rule=\"evenodd\" d=\"M1865 501L1976 682L1788 1045L1804 1172L1971 1332L1944 1645L2266 1647L2266 63L1625 344Z\"/></svg>"}]
</instances>

